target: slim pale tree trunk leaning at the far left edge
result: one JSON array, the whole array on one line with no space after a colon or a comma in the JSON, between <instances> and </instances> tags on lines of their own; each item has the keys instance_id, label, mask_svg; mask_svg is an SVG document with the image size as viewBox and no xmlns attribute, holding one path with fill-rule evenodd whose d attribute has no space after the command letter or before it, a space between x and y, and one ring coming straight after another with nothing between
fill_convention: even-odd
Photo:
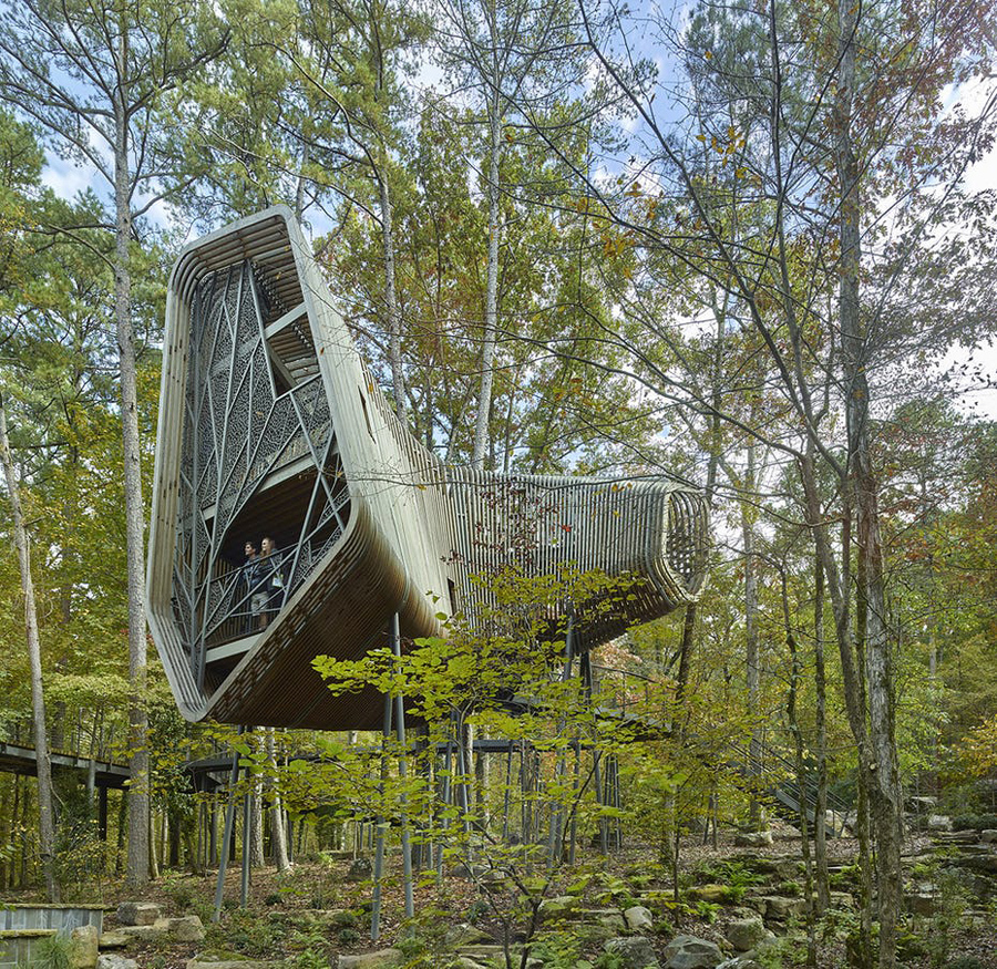
<instances>
[{"instance_id":1,"label":"slim pale tree trunk leaning at the far left edge","mask_svg":"<svg viewBox=\"0 0 997 969\"><path fill-rule=\"evenodd\" d=\"M21 592L24 596L24 635L28 640L28 658L31 664L31 707L34 713L34 756L38 766L38 836L49 901L59 901L55 883L55 816L52 808L52 770L49 762L48 732L45 729L45 698L42 691L41 643L38 638L38 612L34 606L34 583L31 580L31 556L28 533L21 513L21 495L14 473L10 441L7 436L7 408L0 396L0 463L7 480L7 497L14 526L14 545L18 548L18 566L21 570Z\"/></svg>"}]
</instances>

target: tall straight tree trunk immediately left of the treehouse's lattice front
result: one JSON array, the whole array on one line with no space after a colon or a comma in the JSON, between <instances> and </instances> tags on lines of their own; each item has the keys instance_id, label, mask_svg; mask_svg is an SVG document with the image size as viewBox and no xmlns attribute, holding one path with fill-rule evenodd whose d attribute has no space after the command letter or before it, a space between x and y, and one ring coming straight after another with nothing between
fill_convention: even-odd
<instances>
[{"instance_id":1,"label":"tall straight tree trunk immediately left of the treehouse's lattice front","mask_svg":"<svg viewBox=\"0 0 997 969\"><path fill-rule=\"evenodd\" d=\"M122 31L120 74L126 73L127 31ZM138 447L138 389L135 334L132 327L132 276L129 246L132 238L129 173L129 125L120 92L115 93L114 146L114 317L117 324L121 379L121 429L124 446L125 542L129 586L129 862L126 880L138 888L148 880L148 715L145 709L145 509L142 503L142 465Z\"/></svg>"}]
</instances>

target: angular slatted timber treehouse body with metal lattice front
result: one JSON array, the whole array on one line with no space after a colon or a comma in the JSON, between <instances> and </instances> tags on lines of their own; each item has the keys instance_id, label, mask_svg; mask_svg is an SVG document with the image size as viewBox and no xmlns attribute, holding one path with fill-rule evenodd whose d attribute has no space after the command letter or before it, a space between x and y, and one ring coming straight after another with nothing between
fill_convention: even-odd
<instances>
[{"instance_id":1,"label":"angular slatted timber treehouse body with metal lattice front","mask_svg":"<svg viewBox=\"0 0 997 969\"><path fill-rule=\"evenodd\" d=\"M669 478L500 475L444 465L361 362L290 212L188 246L171 276L150 536L153 637L191 720L376 726L381 700L333 698L318 653L357 658L395 612L407 637L474 618L474 575L636 575L625 615L584 646L692 601L702 496ZM243 546L280 547L280 601L254 626ZM273 604L271 604L273 605Z\"/></svg>"}]
</instances>

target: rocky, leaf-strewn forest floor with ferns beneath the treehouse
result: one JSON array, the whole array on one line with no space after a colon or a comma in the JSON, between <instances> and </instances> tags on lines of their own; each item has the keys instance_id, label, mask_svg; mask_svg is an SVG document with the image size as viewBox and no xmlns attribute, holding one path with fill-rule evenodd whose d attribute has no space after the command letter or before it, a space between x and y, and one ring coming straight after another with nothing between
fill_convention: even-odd
<instances>
[{"instance_id":1,"label":"rocky, leaf-strewn forest floor with ferns beneath the treehouse","mask_svg":"<svg viewBox=\"0 0 997 969\"><path fill-rule=\"evenodd\" d=\"M532 932L531 969L774 969L802 965L808 950L801 843L775 827L769 843L717 847L691 841L680 857L678 898L654 853L633 846L606 859L580 858L571 877L545 893ZM847 938L859 921L856 845L831 843L832 897L814 946L821 969L847 966ZM239 906L238 869L225 886L222 918L212 921L215 879L167 875L142 899L106 898L99 969L380 969L504 965L521 961L530 934L521 893L495 878L415 888L414 925L403 921L400 862L393 855L383 893L380 938L370 940L369 866L349 855L302 862L289 875L253 873ZM479 873L480 875L481 873ZM901 963L997 969L997 832L914 838L905 855L907 908ZM481 882L481 877L479 877ZM491 895L498 913L489 905ZM85 951L84 951L85 950ZM71 969L92 969L97 940L78 939ZM963 961L959 962L958 960ZM974 961L975 960L975 961ZM263 963L263 965L260 965Z\"/></svg>"}]
</instances>

